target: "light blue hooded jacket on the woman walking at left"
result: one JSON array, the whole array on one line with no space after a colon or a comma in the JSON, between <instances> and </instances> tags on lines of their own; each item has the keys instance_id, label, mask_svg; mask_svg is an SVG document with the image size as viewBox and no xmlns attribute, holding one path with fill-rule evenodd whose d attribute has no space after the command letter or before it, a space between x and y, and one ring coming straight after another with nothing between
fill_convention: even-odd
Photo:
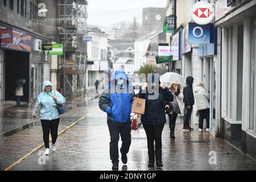
<instances>
[{"instance_id":1,"label":"light blue hooded jacket on the woman walking at left","mask_svg":"<svg viewBox=\"0 0 256 182\"><path fill-rule=\"evenodd\" d=\"M42 92L39 94L38 99L36 100L35 108L33 111L33 115L36 115L36 110L38 109L39 104L41 104L40 108L40 117L45 120L53 120L60 117L60 114L55 105L55 100L53 100L52 96L57 96L58 104L65 104L65 98L56 90L52 90L50 92L46 92L46 86L51 86L52 83L50 81L44 81Z\"/></svg>"}]
</instances>

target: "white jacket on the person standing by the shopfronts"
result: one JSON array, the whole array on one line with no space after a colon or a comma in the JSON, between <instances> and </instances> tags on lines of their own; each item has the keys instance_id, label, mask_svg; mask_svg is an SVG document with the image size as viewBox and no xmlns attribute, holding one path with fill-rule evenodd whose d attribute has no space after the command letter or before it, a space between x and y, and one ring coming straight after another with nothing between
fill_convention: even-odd
<instances>
[{"instance_id":1,"label":"white jacket on the person standing by the shopfronts","mask_svg":"<svg viewBox=\"0 0 256 182\"><path fill-rule=\"evenodd\" d=\"M210 107L210 104L209 104L210 96L204 87L196 86L195 98L196 98L197 110L203 110Z\"/></svg>"}]
</instances>

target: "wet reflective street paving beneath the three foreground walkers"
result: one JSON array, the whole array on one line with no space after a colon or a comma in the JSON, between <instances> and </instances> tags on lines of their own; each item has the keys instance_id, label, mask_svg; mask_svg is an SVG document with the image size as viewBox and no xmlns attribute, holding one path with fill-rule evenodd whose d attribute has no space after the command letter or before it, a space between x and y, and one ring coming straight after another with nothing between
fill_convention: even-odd
<instances>
[{"instance_id":1,"label":"wet reflective street paving beneath the three foreground walkers","mask_svg":"<svg viewBox=\"0 0 256 182\"><path fill-rule=\"evenodd\" d=\"M44 147L27 156L11 170L111 171L109 130L106 114L98 108L98 99L80 102L61 115L59 131L81 119L57 139L57 150L42 155ZM163 130L163 167L148 168L147 140L143 127L132 131L128 162L119 162L119 170L256 170L255 160L207 132L182 131L178 118L176 139L170 139L168 125ZM0 140L0 169L3 170L43 143L41 126L33 126ZM121 141L119 141L119 147ZM51 149L51 147L50 147ZM212 158L209 155L213 155ZM121 155L119 157L121 159ZM216 159L216 160L214 160ZM216 162L216 164L214 164Z\"/></svg>"}]
</instances>

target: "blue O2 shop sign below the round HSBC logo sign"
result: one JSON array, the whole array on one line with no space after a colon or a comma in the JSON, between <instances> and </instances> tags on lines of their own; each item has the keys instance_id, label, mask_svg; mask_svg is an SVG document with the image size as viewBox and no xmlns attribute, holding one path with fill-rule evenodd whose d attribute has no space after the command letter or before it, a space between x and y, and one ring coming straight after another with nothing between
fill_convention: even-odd
<instances>
[{"instance_id":1,"label":"blue O2 shop sign below the round HSBC logo sign","mask_svg":"<svg viewBox=\"0 0 256 182\"><path fill-rule=\"evenodd\" d=\"M213 23L200 25L188 23L188 43L189 44L209 44L213 43Z\"/></svg>"}]
</instances>

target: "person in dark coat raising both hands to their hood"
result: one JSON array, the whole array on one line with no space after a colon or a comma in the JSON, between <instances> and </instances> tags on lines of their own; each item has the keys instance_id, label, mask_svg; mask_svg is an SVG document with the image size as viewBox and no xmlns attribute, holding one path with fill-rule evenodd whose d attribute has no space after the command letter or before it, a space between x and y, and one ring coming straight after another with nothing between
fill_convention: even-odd
<instances>
[{"instance_id":1,"label":"person in dark coat raising both hands to their hood","mask_svg":"<svg viewBox=\"0 0 256 182\"><path fill-rule=\"evenodd\" d=\"M165 101L171 102L174 100L174 96L172 96L171 92L164 86L164 84L160 83L159 79L155 82L155 77L158 77L158 75L153 73L151 79L142 85L138 94L139 98L144 98L146 100L145 112L141 117L141 121L147 135L148 167L154 167L155 158L156 166L163 166L162 131L164 124L166 123L164 103ZM151 87L150 89L148 89L149 86ZM154 93L148 92L151 89L154 89Z\"/></svg>"}]
</instances>

